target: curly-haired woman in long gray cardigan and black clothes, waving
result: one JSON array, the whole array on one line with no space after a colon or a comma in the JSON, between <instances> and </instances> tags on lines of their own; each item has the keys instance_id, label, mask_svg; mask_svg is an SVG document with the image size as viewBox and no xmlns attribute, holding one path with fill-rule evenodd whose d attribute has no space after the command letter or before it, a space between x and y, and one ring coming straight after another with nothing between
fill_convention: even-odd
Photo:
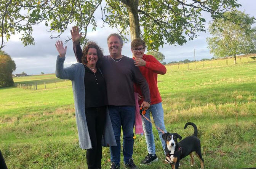
<instances>
[{"instance_id":1,"label":"curly-haired woman in long gray cardigan and black clothes, waving","mask_svg":"<svg viewBox=\"0 0 256 169\"><path fill-rule=\"evenodd\" d=\"M83 49L82 63L64 69L67 46L64 48L62 41L56 42L55 46L59 52L56 77L72 80L79 144L82 149L87 149L88 169L100 169L101 146L116 146L107 111L106 85L96 66L103 56L102 50L96 43L88 42Z\"/></svg>"}]
</instances>

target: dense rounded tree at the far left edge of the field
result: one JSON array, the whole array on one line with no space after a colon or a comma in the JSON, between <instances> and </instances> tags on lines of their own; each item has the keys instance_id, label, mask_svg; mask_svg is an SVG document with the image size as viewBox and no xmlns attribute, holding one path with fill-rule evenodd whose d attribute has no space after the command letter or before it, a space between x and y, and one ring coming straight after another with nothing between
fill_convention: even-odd
<instances>
[{"instance_id":1,"label":"dense rounded tree at the far left edge of the field","mask_svg":"<svg viewBox=\"0 0 256 169\"><path fill-rule=\"evenodd\" d=\"M0 50L0 87L13 86L12 73L15 69L11 56Z\"/></svg>"}]
</instances>

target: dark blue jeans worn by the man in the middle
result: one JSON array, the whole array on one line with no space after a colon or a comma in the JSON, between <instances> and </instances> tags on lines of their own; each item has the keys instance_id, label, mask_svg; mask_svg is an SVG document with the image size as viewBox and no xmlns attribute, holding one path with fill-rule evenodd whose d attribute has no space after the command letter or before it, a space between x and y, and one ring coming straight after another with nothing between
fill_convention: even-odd
<instances>
[{"instance_id":1,"label":"dark blue jeans worn by the man in the middle","mask_svg":"<svg viewBox=\"0 0 256 169\"><path fill-rule=\"evenodd\" d=\"M135 123L135 106L109 106L109 115L112 122L117 146L110 147L110 161L120 166L121 153L121 126L123 129L123 161L129 163L133 155L133 127Z\"/></svg>"}]
</instances>

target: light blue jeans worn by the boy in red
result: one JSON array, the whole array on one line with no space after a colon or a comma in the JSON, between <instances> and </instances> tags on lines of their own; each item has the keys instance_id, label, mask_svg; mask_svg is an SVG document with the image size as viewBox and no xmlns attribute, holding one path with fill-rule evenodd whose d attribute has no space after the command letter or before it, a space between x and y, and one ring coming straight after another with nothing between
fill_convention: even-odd
<instances>
[{"instance_id":1,"label":"light blue jeans worn by the boy in red","mask_svg":"<svg viewBox=\"0 0 256 169\"><path fill-rule=\"evenodd\" d=\"M155 125L158 128L160 128L161 130L163 130L164 133L166 133L165 124L163 121L162 103L150 105L149 109L147 110L146 114L144 115L150 120L150 114L149 114L150 112L149 111L152 114ZM149 121L147 121L143 116L141 116L141 120L142 120L143 131L145 133L145 138L146 138L146 142L147 142L147 151L149 152L149 154L155 154L155 142L154 142L152 124ZM162 138L163 133L160 130L158 130L158 128L157 128L158 135L159 135L159 138L162 143L163 151L165 152L165 141Z\"/></svg>"}]
</instances>

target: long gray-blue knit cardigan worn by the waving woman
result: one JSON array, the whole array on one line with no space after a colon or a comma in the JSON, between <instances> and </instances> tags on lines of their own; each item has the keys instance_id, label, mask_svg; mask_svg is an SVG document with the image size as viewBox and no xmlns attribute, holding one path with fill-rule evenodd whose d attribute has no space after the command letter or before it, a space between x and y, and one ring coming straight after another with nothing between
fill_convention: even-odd
<instances>
[{"instance_id":1,"label":"long gray-blue knit cardigan worn by the waving woman","mask_svg":"<svg viewBox=\"0 0 256 169\"><path fill-rule=\"evenodd\" d=\"M91 139L85 117L85 68L82 63L76 63L64 69L64 60L65 57L61 58L57 56L55 75L61 79L72 80L79 144L82 149L91 149ZM109 147L116 145L117 143L115 141L109 111L107 110L106 125L102 136L102 146Z\"/></svg>"}]
</instances>

